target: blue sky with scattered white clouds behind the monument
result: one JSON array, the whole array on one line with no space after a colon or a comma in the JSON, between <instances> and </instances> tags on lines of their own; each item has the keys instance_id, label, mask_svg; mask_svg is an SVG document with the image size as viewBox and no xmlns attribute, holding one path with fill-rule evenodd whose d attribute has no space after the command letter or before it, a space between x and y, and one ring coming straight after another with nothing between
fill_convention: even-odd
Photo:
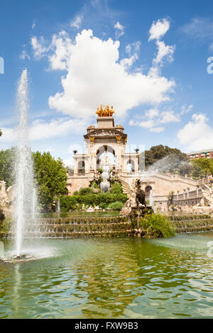
<instances>
[{"instance_id":1,"label":"blue sky with scattered white clouds behind the monument","mask_svg":"<svg viewBox=\"0 0 213 333\"><path fill-rule=\"evenodd\" d=\"M23 68L33 150L72 163L101 103L129 145L213 147L212 1L4 1L0 31L2 149L16 144Z\"/></svg>"}]
</instances>

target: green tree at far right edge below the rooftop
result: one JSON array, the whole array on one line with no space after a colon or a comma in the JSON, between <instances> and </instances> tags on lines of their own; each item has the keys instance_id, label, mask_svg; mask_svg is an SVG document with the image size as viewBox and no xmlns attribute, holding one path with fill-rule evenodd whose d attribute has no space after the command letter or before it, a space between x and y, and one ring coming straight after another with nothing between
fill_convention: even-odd
<instances>
[{"instance_id":1,"label":"green tree at far right edge below the rooftop","mask_svg":"<svg viewBox=\"0 0 213 333\"><path fill-rule=\"evenodd\" d=\"M191 164L193 166L192 177L200 178L213 175L213 159L205 159L204 157L192 159Z\"/></svg>"}]
</instances>

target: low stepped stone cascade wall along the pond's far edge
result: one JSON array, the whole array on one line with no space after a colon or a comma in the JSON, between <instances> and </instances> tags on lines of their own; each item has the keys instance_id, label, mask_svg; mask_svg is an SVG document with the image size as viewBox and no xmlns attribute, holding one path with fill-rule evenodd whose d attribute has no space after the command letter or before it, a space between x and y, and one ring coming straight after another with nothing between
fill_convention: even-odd
<instances>
[{"instance_id":1,"label":"low stepped stone cascade wall along the pond's far edge","mask_svg":"<svg viewBox=\"0 0 213 333\"><path fill-rule=\"evenodd\" d=\"M168 216L175 232L207 232L213 230L211 215ZM40 232L38 233L38 227ZM40 218L35 225L26 225L25 237L126 237L135 235L126 218ZM13 237L13 232L0 232L0 237Z\"/></svg>"}]
</instances>

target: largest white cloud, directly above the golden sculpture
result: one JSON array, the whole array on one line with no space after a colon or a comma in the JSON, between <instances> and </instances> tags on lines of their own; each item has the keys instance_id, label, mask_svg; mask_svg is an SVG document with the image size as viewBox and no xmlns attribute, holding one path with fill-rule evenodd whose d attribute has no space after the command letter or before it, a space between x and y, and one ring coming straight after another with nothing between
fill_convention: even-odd
<instances>
[{"instance_id":1,"label":"largest white cloud, directly above the golden sculpture","mask_svg":"<svg viewBox=\"0 0 213 333\"><path fill-rule=\"evenodd\" d=\"M66 69L61 78L62 92L50 96L49 106L74 117L89 117L99 103L114 106L117 115L141 103L158 104L170 99L175 81L157 74L129 72L137 59L139 44L133 47L133 55L119 61L118 40L101 40L92 30L82 30L72 42L65 32L54 35L45 53L33 39L35 57L48 56L50 69ZM126 68L128 67L128 69Z\"/></svg>"}]
</instances>

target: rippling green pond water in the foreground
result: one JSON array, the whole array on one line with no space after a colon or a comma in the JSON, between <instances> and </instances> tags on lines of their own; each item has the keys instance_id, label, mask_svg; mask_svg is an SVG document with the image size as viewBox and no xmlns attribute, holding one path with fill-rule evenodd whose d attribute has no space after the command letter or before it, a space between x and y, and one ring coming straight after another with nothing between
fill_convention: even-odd
<instances>
[{"instance_id":1,"label":"rippling green pond water in the foreground","mask_svg":"<svg viewBox=\"0 0 213 333\"><path fill-rule=\"evenodd\" d=\"M210 241L211 232L26 240L38 259L0 264L0 318L213 318Z\"/></svg>"}]
</instances>

